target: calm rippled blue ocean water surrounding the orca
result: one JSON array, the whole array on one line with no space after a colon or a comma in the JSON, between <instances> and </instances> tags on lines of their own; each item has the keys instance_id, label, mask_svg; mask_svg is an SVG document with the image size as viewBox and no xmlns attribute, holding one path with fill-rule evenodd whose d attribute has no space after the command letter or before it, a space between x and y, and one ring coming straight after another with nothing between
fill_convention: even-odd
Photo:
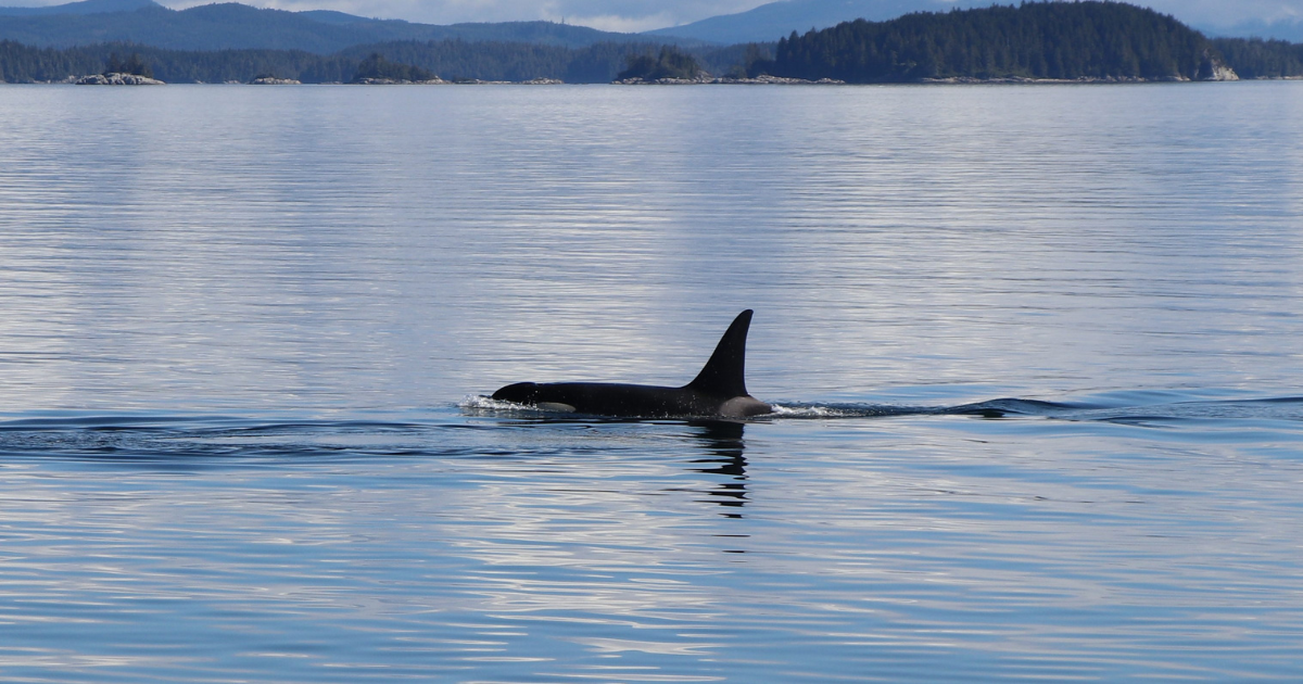
<instances>
[{"instance_id":1,"label":"calm rippled blue ocean water surrounding the orca","mask_svg":"<svg viewBox=\"0 0 1303 684\"><path fill-rule=\"evenodd\" d=\"M1300 340L1299 82L0 86L0 680L1296 680Z\"/></svg>"}]
</instances>

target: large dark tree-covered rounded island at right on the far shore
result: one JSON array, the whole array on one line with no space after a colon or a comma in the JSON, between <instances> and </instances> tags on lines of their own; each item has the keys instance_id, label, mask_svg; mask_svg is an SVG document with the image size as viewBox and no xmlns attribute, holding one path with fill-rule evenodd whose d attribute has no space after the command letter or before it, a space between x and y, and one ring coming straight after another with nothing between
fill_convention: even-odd
<instances>
[{"instance_id":1,"label":"large dark tree-covered rounded island at right on the far shore","mask_svg":"<svg viewBox=\"0 0 1303 684\"><path fill-rule=\"evenodd\" d=\"M1235 78L1199 31L1152 9L1097 1L917 13L794 31L778 42L773 60L748 70L851 83Z\"/></svg>"}]
</instances>

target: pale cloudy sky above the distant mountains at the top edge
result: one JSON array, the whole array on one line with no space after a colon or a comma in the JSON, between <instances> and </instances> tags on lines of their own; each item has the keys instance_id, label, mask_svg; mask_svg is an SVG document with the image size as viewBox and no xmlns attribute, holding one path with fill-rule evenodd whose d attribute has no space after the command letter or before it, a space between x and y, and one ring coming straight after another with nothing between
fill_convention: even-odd
<instances>
[{"instance_id":1,"label":"pale cloudy sky above the distant mountains at the top edge","mask_svg":"<svg viewBox=\"0 0 1303 684\"><path fill-rule=\"evenodd\" d=\"M68 0L0 0L0 4L61 4ZM172 8L216 0L159 0ZM279 9L337 9L364 17L400 18L426 23L460 21L566 20L606 30L641 31L688 23L715 14L743 12L766 0L238 0ZM1001 0L1002 4L1012 4ZM1187 23L1234 26L1253 20L1298 21L1303 0L1138 0Z\"/></svg>"}]
</instances>

